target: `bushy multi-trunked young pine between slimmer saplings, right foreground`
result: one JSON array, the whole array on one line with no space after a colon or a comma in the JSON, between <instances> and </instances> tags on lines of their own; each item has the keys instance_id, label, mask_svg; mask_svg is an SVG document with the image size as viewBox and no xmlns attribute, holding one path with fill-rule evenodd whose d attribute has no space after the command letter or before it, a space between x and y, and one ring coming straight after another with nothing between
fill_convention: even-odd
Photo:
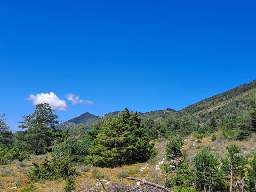
<instances>
[{"instance_id":1,"label":"bushy multi-trunked young pine between slimmer saplings, right foreground","mask_svg":"<svg viewBox=\"0 0 256 192\"><path fill-rule=\"evenodd\" d=\"M197 186L203 187L206 192L213 191L214 183L217 175L219 157L214 157L211 152L211 147L204 146L194 159L194 166L197 174Z\"/></svg>"}]
</instances>

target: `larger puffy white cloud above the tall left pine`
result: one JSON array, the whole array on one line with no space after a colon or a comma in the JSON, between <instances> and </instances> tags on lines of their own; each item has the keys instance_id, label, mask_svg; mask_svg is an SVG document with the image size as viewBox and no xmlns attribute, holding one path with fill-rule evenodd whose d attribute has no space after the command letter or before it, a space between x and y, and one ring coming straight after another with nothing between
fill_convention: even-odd
<instances>
[{"instance_id":1,"label":"larger puffy white cloud above the tall left pine","mask_svg":"<svg viewBox=\"0 0 256 192\"><path fill-rule=\"evenodd\" d=\"M49 103L52 109L60 110L60 111L67 111L67 104L65 100L59 99L57 95L55 95L53 92L49 93L41 93L29 95L29 98L26 98L26 100L32 101L33 105L37 105L40 103Z\"/></svg>"}]
</instances>

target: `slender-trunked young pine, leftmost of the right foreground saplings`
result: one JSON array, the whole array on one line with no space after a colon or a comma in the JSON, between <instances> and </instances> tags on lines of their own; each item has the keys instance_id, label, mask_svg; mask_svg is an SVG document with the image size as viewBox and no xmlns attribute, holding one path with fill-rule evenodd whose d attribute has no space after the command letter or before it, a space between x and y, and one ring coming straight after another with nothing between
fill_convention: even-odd
<instances>
[{"instance_id":1,"label":"slender-trunked young pine, leftmost of the right foreground saplings","mask_svg":"<svg viewBox=\"0 0 256 192\"><path fill-rule=\"evenodd\" d=\"M180 136L175 136L170 139L166 145L167 157L175 160L175 176L177 176L177 168L179 158L182 156L181 147L184 144Z\"/></svg>"}]
</instances>

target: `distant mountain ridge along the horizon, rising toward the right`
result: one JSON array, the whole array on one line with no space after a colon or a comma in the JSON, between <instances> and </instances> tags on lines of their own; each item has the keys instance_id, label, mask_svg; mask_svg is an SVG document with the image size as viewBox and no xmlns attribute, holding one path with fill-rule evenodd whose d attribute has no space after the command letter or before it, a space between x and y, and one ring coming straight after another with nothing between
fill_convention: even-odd
<instances>
[{"instance_id":1,"label":"distant mountain ridge along the horizon, rising toward the right","mask_svg":"<svg viewBox=\"0 0 256 192\"><path fill-rule=\"evenodd\" d=\"M227 111L230 110L233 113L241 112L244 110L244 99L254 93L256 91L256 80L240 85L236 88L230 89L226 92L220 93L218 95L214 95L210 98L204 99L202 101L199 101L195 104L189 105L185 108L183 108L180 111L176 111L173 109L165 109L165 110L157 110L157 111L150 111L146 113L139 113L140 118L142 119L142 122L147 118L152 118L154 120L162 120L166 118L171 113L176 113L178 115L182 115L184 113L192 114L194 116L206 116L204 121L207 121L207 118L212 117L212 112L215 113L227 113ZM61 124L58 124L56 126L57 129L72 129L78 126L79 124L83 124L86 128L89 128L91 124L100 118L104 118L108 115L116 117L119 114L120 111L115 111L112 113L108 113L103 116L96 116L89 112L86 112L84 114L78 115L74 117L73 119L70 119L68 121L65 121ZM214 114L214 113L213 113ZM215 116L217 116L215 114ZM201 123L204 123L201 122ZM200 122L199 122L200 123Z\"/></svg>"}]
</instances>

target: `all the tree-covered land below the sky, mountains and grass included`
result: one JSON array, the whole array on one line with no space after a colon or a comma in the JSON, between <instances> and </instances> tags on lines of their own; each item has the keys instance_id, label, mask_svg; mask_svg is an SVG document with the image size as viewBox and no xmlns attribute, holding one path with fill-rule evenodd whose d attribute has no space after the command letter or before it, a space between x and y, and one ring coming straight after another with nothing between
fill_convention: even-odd
<instances>
[{"instance_id":1,"label":"all the tree-covered land below the sky, mountains and grass included","mask_svg":"<svg viewBox=\"0 0 256 192\"><path fill-rule=\"evenodd\" d=\"M41 103L15 134L3 114L0 190L256 192L255 89L253 81L181 111L86 112L62 124Z\"/></svg>"}]
</instances>

